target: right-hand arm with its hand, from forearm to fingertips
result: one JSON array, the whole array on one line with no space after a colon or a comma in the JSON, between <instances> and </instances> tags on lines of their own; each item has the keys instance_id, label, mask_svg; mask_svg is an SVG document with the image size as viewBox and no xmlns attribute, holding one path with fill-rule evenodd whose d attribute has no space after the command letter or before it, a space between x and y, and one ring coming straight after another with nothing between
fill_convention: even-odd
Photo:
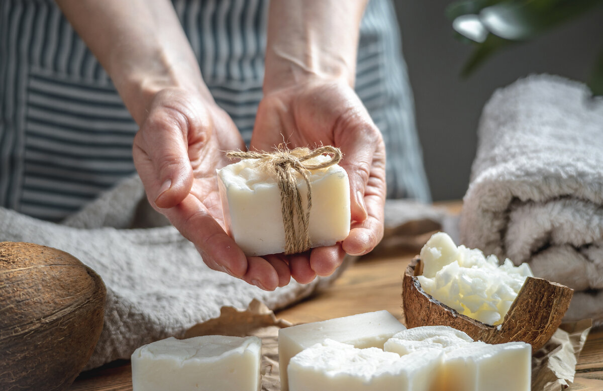
<instances>
[{"instance_id":1,"label":"right-hand arm with its hand, from forearm to fingertips","mask_svg":"<svg viewBox=\"0 0 603 391\"><path fill-rule=\"evenodd\" d=\"M383 237L385 147L353 91L359 25L365 1L271 1L264 77L251 148L330 144L341 148L350 178L352 229L338 246L289 260L308 282L329 275L345 253L362 255Z\"/></svg>"}]
</instances>

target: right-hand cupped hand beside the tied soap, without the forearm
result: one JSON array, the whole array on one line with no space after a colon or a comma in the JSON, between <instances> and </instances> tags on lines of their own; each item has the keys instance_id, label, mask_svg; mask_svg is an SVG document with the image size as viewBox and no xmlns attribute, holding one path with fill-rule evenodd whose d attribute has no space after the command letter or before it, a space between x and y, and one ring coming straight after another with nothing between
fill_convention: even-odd
<instances>
[{"instance_id":1,"label":"right-hand cupped hand beside the tied soap, without the forearm","mask_svg":"<svg viewBox=\"0 0 603 391\"><path fill-rule=\"evenodd\" d=\"M251 150L333 145L344 154L339 163L350 179L352 226L342 242L284 259L291 276L308 283L330 275L345 253L363 255L383 237L385 145L367 110L344 80L309 78L266 92L257 110Z\"/></svg>"}]
</instances>

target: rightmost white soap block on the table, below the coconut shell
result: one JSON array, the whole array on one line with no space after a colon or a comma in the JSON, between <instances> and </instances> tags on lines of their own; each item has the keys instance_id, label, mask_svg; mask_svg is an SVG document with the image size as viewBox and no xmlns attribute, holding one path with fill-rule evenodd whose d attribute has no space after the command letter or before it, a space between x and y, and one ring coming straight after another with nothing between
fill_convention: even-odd
<instances>
[{"instance_id":1,"label":"rightmost white soap block on the table, below the coconut shell","mask_svg":"<svg viewBox=\"0 0 603 391\"><path fill-rule=\"evenodd\" d=\"M473 342L445 353L440 387L449 391L529 391L531 357L528 343Z\"/></svg>"}]
</instances>

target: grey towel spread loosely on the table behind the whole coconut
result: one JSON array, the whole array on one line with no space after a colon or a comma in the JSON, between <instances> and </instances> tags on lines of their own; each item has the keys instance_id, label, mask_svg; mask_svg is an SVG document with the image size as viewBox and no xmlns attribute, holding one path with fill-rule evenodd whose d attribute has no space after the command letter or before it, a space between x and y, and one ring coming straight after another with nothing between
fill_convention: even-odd
<instances>
[{"instance_id":1,"label":"grey towel spread loosely on the table behind the whole coconut","mask_svg":"<svg viewBox=\"0 0 603 391\"><path fill-rule=\"evenodd\" d=\"M388 201L388 228L395 231L397 225L406 226L398 235L421 234L408 229L408 220L443 218L443 212L419 206ZM195 247L166 223L146 202L140 179L131 177L62 224L0 208L0 241L27 241L64 250L103 278L107 287L104 328L87 369L130 358L134 349L154 340L183 337L191 326L218 317L223 306L247 308L251 300L259 299L272 310L285 307L328 285L354 259L348 256L328 278L308 285L292 281L266 292L209 269Z\"/></svg>"}]
</instances>

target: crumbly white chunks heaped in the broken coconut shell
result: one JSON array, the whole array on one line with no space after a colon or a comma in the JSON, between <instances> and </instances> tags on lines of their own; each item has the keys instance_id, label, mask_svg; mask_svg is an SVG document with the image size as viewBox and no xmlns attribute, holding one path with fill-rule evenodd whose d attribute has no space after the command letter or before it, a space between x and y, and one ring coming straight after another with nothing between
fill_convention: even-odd
<instances>
[{"instance_id":1,"label":"crumbly white chunks heaped in the broken coconut shell","mask_svg":"<svg viewBox=\"0 0 603 391\"><path fill-rule=\"evenodd\" d=\"M494 255L458 246L443 232L432 235L420 253L421 288L458 313L489 325L502 323L525 279L528 264L499 265Z\"/></svg>"}]
</instances>

